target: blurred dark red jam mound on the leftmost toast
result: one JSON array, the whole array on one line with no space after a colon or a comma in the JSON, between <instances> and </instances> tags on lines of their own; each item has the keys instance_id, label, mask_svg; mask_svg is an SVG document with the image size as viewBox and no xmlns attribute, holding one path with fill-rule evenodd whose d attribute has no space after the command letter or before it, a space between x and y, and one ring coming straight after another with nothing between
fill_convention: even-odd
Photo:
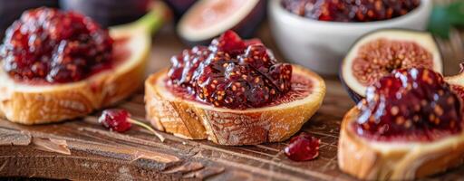
<instances>
[{"instance_id":1,"label":"blurred dark red jam mound on the leftmost toast","mask_svg":"<svg viewBox=\"0 0 464 181\"><path fill-rule=\"evenodd\" d=\"M6 31L3 68L15 81L81 81L111 67L107 30L74 12L38 8L24 12Z\"/></svg>"}]
</instances>

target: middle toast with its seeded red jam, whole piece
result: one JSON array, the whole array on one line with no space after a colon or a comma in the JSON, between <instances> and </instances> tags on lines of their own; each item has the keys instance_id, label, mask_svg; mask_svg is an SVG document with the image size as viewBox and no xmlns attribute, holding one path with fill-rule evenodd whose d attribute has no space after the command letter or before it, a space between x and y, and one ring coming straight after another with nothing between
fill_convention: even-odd
<instances>
[{"instance_id":1,"label":"middle toast with its seeded red jam, whole piece","mask_svg":"<svg viewBox=\"0 0 464 181\"><path fill-rule=\"evenodd\" d=\"M278 62L260 41L231 31L171 62L145 81L147 118L181 138L221 145L282 141L314 114L325 94L314 72Z\"/></svg>"}]
</instances>

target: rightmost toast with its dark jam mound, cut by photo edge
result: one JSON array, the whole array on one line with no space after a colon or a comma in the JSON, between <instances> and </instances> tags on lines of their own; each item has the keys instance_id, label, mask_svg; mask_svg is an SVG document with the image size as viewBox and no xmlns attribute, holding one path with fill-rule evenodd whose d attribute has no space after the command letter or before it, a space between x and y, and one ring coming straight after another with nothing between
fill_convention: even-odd
<instances>
[{"instance_id":1,"label":"rightmost toast with its dark jam mound, cut by photo edge","mask_svg":"<svg viewBox=\"0 0 464 181\"><path fill-rule=\"evenodd\" d=\"M343 118L338 164L344 172L367 180L403 180L463 162L463 102L440 73L393 71L365 95Z\"/></svg>"}]
</instances>

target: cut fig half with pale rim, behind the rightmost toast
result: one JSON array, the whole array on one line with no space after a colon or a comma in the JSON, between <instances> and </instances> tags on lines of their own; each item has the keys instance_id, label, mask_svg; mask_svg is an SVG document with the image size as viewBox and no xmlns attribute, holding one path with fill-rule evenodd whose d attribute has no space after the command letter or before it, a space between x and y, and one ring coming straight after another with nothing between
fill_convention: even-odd
<instances>
[{"instance_id":1,"label":"cut fig half with pale rim, behind the rightmost toast","mask_svg":"<svg viewBox=\"0 0 464 181\"><path fill-rule=\"evenodd\" d=\"M396 69L428 68L442 73L442 59L430 33L386 29L362 36L343 59L340 80L356 102L373 82Z\"/></svg>"}]
</instances>

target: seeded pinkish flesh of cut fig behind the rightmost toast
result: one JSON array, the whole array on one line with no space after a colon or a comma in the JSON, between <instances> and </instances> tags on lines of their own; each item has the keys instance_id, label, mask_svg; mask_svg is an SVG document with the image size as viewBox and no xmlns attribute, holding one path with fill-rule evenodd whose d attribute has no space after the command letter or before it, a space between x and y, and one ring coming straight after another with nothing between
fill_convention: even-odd
<instances>
[{"instance_id":1,"label":"seeded pinkish flesh of cut fig behind the rightmost toast","mask_svg":"<svg viewBox=\"0 0 464 181\"><path fill-rule=\"evenodd\" d=\"M380 38L363 44L353 60L353 76L369 86L396 69L433 68L431 52L411 41Z\"/></svg>"}]
</instances>

